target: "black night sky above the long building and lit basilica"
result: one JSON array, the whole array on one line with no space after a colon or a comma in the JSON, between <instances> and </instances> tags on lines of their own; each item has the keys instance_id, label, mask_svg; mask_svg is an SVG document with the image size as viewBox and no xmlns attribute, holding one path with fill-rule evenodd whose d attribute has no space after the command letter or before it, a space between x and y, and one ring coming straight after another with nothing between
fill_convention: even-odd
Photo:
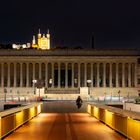
<instances>
[{"instance_id":1,"label":"black night sky above the long building and lit basilica","mask_svg":"<svg viewBox=\"0 0 140 140\"><path fill-rule=\"evenodd\" d=\"M52 46L139 48L140 4L133 0L3 0L0 43L31 42L51 32Z\"/></svg>"}]
</instances>

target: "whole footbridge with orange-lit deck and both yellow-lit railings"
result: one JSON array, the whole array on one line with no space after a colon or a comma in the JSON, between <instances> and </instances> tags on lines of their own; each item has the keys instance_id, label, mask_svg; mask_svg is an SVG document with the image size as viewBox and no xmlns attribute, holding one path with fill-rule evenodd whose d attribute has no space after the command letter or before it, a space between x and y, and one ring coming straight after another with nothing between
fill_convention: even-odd
<instances>
[{"instance_id":1,"label":"whole footbridge with orange-lit deck and both yellow-lit railings","mask_svg":"<svg viewBox=\"0 0 140 140\"><path fill-rule=\"evenodd\" d=\"M6 113L5 113L6 112ZM47 101L1 112L5 140L140 139L140 114L84 102Z\"/></svg>"}]
</instances>

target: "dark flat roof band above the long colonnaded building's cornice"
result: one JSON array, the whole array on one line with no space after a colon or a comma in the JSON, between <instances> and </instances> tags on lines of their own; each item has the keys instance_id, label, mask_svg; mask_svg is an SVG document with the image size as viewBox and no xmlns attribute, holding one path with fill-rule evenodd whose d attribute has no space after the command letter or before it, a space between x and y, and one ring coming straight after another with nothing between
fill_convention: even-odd
<instances>
[{"instance_id":1,"label":"dark flat roof band above the long colonnaded building's cornice","mask_svg":"<svg viewBox=\"0 0 140 140\"><path fill-rule=\"evenodd\" d=\"M0 56L140 56L136 49L1 49Z\"/></svg>"}]
</instances>

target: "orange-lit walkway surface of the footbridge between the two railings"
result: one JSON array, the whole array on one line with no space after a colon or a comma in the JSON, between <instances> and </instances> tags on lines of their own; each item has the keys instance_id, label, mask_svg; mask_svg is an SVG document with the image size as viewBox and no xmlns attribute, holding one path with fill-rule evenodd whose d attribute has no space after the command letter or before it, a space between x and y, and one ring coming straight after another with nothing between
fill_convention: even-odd
<instances>
[{"instance_id":1,"label":"orange-lit walkway surface of the footbridge between the two railings","mask_svg":"<svg viewBox=\"0 0 140 140\"><path fill-rule=\"evenodd\" d=\"M125 140L87 113L41 113L5 140Z\"/></svg>"}]
</instances>

